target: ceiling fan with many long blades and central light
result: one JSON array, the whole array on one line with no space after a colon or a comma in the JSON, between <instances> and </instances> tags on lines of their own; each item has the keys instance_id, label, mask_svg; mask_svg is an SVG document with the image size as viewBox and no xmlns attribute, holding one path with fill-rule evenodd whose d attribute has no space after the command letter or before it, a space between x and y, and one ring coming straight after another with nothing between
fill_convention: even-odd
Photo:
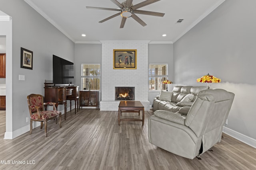
<instances>
[{"instance_id":1,"label":"ceiling fan with many long blades and central light","mask_svg":"<svg viewBox=\"0 0 256 170\"><path fill-rule=\"evenodd\" d=\"M144 6L147 6L149 4L152 4L154 2L160 1L160 0L145 0L139 4L133 5L132 0L126 0L125 2L122 2L121 4L117 0L111 0L114 4L116 4L119 9L115 8L99 8L99 7L90 7L86 6L88 9L96 9L96 10L110 10L110 11L119 11L117 14L114 14L102 21L99 21L100 23L105 22L107 20L110 20L111 18L114 18L116 16L121 15L122 16L122 21L120 28L124 27L125 21L127 18L132 17L134 20L136 20L140 25L143 27L146 26L147 24L142 21L136 14L143 14L143 15L150 15L150 16L158 16L158 17L163 17L164 13L160 12L151 12L151 11L143 11L143 10L137 10L138 8L142 8Z\"/></svg>"}]
</instances>

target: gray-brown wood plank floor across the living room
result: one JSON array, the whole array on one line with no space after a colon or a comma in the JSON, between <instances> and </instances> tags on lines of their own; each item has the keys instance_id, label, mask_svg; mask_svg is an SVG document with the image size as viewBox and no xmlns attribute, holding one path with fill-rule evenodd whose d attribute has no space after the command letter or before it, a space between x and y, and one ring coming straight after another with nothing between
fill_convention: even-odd
<instances>
[{"instance_id":1,"label":"gray-brown wood plank floor across the living room","mask_svg":"<svg viewBox=\"0 0 256 170\"><path fill-rule=\"evenodd\" d=\"M148 117L152 114L145 111L144 126L141 122L121 122L119 126L117 111L84 108L75 115L72 110L67 113L66 121L62 119L62 128L54 121L48 122L48 137L44 136L44 128L37 127L32 135L27 132L4 140L5 112L0 111L0 169L256 169L256 149L225 134L222 141L212 147L214 152L200 156L202 160L183 158L150 144ZM138 118L138 113L122 114L123 118L130 116ZM25 161L25 164L14 161Z\"/></svg>"}]
</instances>

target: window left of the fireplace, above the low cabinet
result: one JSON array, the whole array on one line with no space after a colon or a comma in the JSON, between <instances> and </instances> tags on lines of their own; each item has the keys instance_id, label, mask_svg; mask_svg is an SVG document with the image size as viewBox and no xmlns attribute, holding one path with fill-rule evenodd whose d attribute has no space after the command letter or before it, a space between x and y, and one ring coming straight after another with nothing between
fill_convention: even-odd
<instances>
[{"instance_id":1,"label":"window left of the fireplace, above the low cabinet","mask_svg":"<svg viewBox=\"0 0 256 170\"><path fill-rule=\"evenodd\" d=\"M82 90L88 90L91 82L91 90L100 90L100 64L82 64Z\"/></svg>"}]
</instances>

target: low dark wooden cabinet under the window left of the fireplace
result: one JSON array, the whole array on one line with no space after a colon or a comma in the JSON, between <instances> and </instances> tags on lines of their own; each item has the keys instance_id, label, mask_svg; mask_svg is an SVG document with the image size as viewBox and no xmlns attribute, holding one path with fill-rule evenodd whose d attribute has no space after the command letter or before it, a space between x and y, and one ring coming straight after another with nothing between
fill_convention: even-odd
<instances>
[{"instance_id":1,"label":"low dark wooden cabinet under the window left of the fireplace","mask_svg":"<svg viewBox=\"0 0 256 170\"><path fill-rule=\"evenodd\" d=\"M98 90L82 90L79 91L80 107L96 107L99 108L99 91Z\"/></svg>"}]
</instances>

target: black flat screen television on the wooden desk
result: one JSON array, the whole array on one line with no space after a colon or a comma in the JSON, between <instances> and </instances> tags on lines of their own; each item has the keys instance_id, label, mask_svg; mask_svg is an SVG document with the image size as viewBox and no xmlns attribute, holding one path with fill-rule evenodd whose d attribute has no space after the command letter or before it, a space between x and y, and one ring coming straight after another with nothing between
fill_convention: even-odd
<instances>
[{"instance_id":1,"label":"black flat screen television on the wooden desk","mask_svg":"<svg viewBox=\"0 0 256 170\"><path fill-rule=\"evenodd\" d=\"M74 84L74 63L53 55L52 68L53 84Z\"/></svg>"}]
</instances>

